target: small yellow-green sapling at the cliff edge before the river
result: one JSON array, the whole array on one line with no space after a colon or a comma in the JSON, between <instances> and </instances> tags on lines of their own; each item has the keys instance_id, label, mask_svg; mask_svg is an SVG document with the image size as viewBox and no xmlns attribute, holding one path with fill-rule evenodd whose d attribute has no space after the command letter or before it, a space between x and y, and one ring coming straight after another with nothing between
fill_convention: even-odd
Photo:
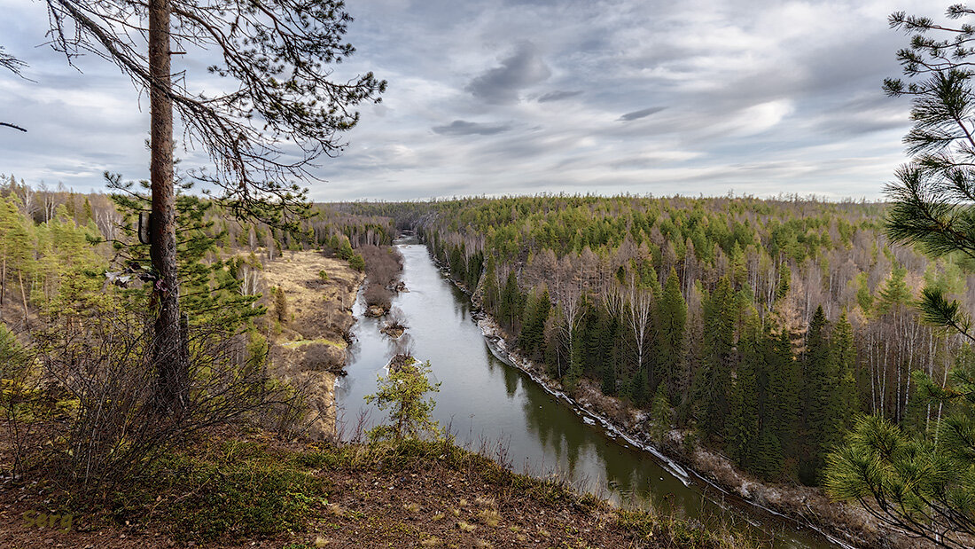
<instances>
[{"instance_id":1,"label":"small yellow-green sapling at the cliff edge before the river","mask_svg":"<svg viewBox=\"0 0 975 549\"><path fill-rule=\"evenodd\" d=\"M430 363L418 363L408 357L402 366L391 366L389 375L379 377L378 391L366 395L366 402L375 403L379 410L388 410L390 424L370 429L371 441L440 438L443 435L433 419L437 403L426 398L427 393L440 391L440 383L431 383L429 374Z\"/></svg>"}]
</instances>

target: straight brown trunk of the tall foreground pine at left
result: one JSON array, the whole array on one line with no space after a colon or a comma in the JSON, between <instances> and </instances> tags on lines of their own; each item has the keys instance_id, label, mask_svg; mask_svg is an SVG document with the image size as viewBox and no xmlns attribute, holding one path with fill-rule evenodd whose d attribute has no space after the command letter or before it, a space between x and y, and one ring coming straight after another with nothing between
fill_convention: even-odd
<instances>
[{"instance_id":1,"label":"straight brown trunk of the tall foreground pine at left","mask_svg":"<svg viewBox=\"0 0 975 549\"><path fill-rule=\"evenodd\" d=\"M179 284L176 278L176 196L173 186L173 99L170 97L170 4L149 0L149 88L151 109L149 179L152 216L149 255L159 279L152 298L158 307L154 327L153 362L158 372L162 412L180 412L187 394L185 334L179 323Z\"/></svg>"}]
</instances>

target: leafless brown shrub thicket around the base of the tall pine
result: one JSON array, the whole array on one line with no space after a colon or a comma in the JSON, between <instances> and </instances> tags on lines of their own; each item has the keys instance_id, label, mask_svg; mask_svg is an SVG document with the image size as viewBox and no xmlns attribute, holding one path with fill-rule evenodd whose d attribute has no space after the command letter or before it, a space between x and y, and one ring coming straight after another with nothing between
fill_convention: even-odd
<instances>
[{"instance_id":1,"label":"leafless brown shrub thicket around the base of the tall pine","mask_svg":"<svg viewBox=\"0 0 975 549\"><path fill-rule=\"evenodd\" d=\"M84 323L34 333L37 360L19 374L32 384L8 384L3 396L19 462L72 491L111 489L191 433L258 419L295 398L267 378L266 343L207 325L184 330L189 390L180 412L159 404L146 313L99 311Z\"/></svg>"}]
</instances>

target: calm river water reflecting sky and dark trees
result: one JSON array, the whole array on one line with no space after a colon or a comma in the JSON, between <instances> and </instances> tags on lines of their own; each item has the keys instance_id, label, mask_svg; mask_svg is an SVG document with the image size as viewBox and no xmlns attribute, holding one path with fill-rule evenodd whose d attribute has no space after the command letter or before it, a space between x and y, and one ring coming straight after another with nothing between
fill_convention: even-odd
<instances>
[{"instance_id":1,"label":"calm river water reflecting sky and dark trees","mask_svg":"<svg viewBox=\"0 0 975 549\"><path fill-rule=\"evenodd\" d=\"M398 247L409 292L396 296L393 307L404 313L412 354L430 361L435 380L441 382L440 392L433 395L434 416L449 426L458 444L487 448L495 457L500 449L517 472L557 474L578 490L623 506L651 505L706 526L723 523L775 547L834 547L815 531L725 498L706 483L691 480L685 486L650 453L584 422L526 373L490 353L471 317L467 295L441 274L424 246ZM381 420L382 413L363 397L375 392L377 375L385 374L386 363L397 352L396 343L379 333L383 321L365 317L363 311L360 294L348 375L339 379L335 393L346 432L354 430L362 412L370 414L370 423Z\"/></svg>"}]
</instances>

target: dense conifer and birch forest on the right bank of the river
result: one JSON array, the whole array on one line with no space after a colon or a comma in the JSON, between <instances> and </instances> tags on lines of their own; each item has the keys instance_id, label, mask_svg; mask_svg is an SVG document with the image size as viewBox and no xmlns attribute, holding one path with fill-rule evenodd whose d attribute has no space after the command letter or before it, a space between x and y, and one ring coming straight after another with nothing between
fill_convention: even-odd
<instances>
[{"instance_id":1,"label":"dense conifer and birch forest on the right bank of the river","mask_svg":"<svg viewBox=\"0 0 975 549\"><path fill-rule=\"evenodd\" d=\"M962 336L913 306L936 287L975 304L955 258L891 244L883 204L809 198L537 196L357 204L416 226L451 276L578 390L586 379L692 428L768 480L819 485L859 412L914 432L946 413Z\"/></svg>"}]
</instances>

